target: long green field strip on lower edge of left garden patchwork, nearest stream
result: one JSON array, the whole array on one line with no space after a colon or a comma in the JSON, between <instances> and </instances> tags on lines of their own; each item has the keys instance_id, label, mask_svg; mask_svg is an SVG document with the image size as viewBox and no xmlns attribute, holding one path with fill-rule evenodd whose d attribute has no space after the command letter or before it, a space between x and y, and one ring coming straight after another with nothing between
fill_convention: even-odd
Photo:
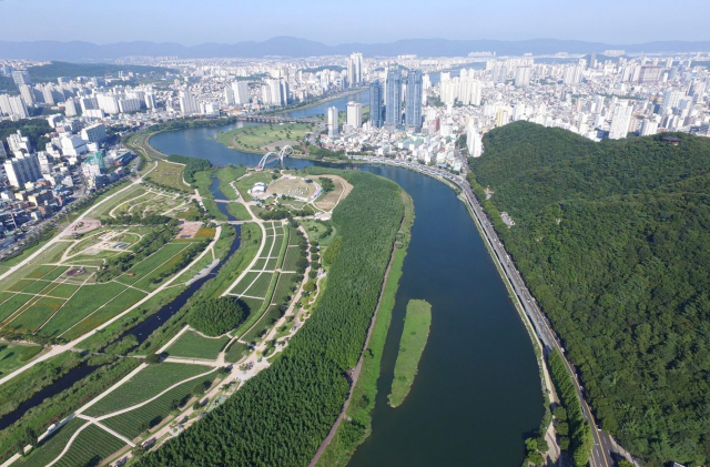
<instances>
[{"instance_id":1,"label":"long green field strip on lower edge of left garden patchwork, nearest stream","mask_svg":"<svg viewBox=\"0 0 710 467\"><path fill-rule=\"evenodd\" d=\"M59 319L64 321L70 318L70 316L62 315L62 309L57 316L57 328L50 328L49 325L52 324L50 322L47 323L44 328L42 328L42 333L51 335L61 333L63 338L72 341L130 308L145 296L146 294L144 292L136 291L135 288L125 288L110 302L106 302L105 305L95 309L94 313L90 313L87 316L80 316L79 319L74 319L75 317L71 316L71 321L67 321L64 323L61 323Z\"/></svg>"}]
</instances>

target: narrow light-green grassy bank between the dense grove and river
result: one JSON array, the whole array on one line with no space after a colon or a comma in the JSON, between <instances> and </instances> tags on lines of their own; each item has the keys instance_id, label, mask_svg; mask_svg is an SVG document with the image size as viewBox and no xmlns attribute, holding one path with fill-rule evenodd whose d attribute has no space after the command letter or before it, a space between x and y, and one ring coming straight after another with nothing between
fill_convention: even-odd
<instances>
[{"instance_id":1,"label":"narrow light-green grassy bank between the dense grove and river","mask_svg":"<svg viewBox=\"0 0 710 467\"><path fill-rule=\"evenodd\" d=\"M369 342L361 356L362 366L349 397L355 404L345 408L344 415L338 418L332 434L323 441L323 445L311 461L310 466L312 467L347 465L357 446L363 444L372 433L372 410L375 408L382 356L387 333L389 332L395 296L399 287L404 258L407 255L407 246L412 238L412 227L415 219L412 196L405 192L403 192L403 196L405 199L405 215L399 230L402 232L399 242L402 242L403 246L395 247L393 251L379 306L372 325Z\"/></svg>"}]
</instances>

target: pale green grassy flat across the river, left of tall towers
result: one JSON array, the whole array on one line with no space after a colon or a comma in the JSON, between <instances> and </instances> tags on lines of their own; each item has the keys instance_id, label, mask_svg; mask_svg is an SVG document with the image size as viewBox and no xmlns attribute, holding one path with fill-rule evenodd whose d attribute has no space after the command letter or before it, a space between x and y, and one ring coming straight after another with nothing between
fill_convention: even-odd
<instances>
[{"instance_id":1,"label":"pale green grassy flat across the river, left of tall towers","mask_svg":"<svg viewBox=\"0 0 710 467\"><path fill-rule=\"evenodd\" d=\"M314 129L315 125L311 123L250 125L219 133L217 142L246 152L260 152L266 146L271 151L278 151L276 145L297 144L297 140L303 140Z\"/></svg>"}]
</instances>

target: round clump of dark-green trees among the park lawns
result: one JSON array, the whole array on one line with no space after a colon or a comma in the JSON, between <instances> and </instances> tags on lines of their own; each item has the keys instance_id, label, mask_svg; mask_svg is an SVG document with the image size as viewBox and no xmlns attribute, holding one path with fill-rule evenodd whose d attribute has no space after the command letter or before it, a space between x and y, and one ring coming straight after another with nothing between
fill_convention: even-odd
<instances>
[{"instance_id":1,"label":"round clump of dark-green trees among the park lawns","mask_svg":"<svg viewBox=\"0 0 710 467\"><path fill-rule=\"evenodd\" d=\"M209 336L219 336L239 326L246 313L231 296L197 302L190 312L190 325Z\"/></svg>"}]
</instances>

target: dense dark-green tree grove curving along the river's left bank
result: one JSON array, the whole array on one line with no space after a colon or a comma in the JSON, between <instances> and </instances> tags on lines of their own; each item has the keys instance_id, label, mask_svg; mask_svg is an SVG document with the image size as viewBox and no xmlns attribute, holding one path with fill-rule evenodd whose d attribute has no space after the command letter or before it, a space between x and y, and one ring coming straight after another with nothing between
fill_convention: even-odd
<instances>
[{"instance_id":1,"label":"dense dark-green tree grove curving along the river's left bank","mask_svg":"<svg viewBox=\"0 0 710 467\"><path fill-rule=\"evenodd\" d=\"M267 372L136 465L308 464L347 396L404 213L397 184L338 175L354 189L333 213L342 242L313 316Z\"/></svg>"}]
</instances>

